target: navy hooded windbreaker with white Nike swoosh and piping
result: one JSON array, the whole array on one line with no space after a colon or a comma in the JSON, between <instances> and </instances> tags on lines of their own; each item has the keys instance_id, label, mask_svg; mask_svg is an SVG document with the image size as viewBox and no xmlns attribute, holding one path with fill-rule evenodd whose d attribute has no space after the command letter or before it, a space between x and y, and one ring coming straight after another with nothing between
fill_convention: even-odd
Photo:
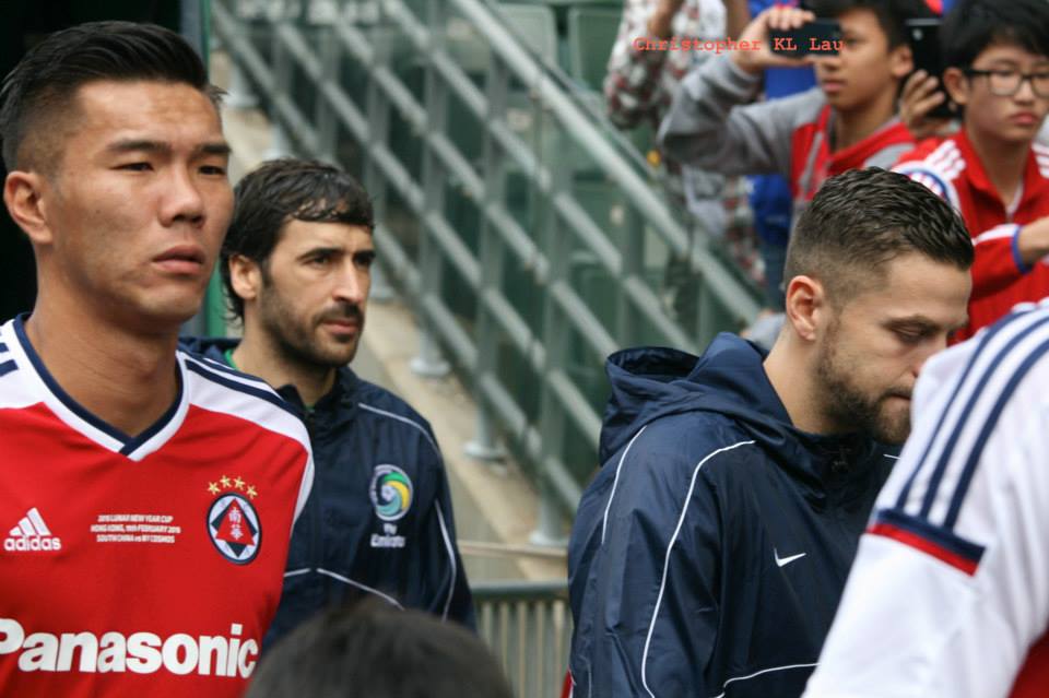
<instances>
[{"instance_id":1,"label":"navy hooded windbreaker with white Nike swoosh and piping","mask_svg":"<svg viewBox=\"0 0 1049 698\"><path fill-rule=\"evenodd\" d=\"M791 698L897 450L795 429L764 355L609 358L603 466L568 548L575 698Z\"/></svg>"}]
</instances>

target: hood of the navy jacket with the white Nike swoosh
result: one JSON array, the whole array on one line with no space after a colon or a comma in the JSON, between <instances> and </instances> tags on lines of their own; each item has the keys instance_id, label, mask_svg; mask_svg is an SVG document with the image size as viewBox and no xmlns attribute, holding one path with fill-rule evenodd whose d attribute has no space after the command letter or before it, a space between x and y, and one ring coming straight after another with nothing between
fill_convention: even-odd
<instances>
[{"instance_id":1,"label":"hood of the navy jacket with the white Nike swoosh","mask_svg":"<svg viewBox=\"0 0 1049 698\"><path fill-rule=\"evenodd\" d=\"M854 463L871 454L877 445L869 437L821 436L795 428L765 372L766 356L757 345L729 333L715 338L698 358L664 347L612 354L606 363L612 397L601 429L601 462L643 426L685 412L733 419L778 462L821 481L830 461Z\"/></svg>"}]
</instances>

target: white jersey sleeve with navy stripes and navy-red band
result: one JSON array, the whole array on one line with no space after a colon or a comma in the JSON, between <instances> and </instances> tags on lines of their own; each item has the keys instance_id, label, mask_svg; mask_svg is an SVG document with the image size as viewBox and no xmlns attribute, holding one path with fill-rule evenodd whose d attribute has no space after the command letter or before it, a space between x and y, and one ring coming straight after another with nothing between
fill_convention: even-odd
<instances>
[{"instance_id":1,"label":"white jersey sleeve with navy stripes and navy-red band","mask_svg":"<svg viewBox=\"0 0 1049 698\"><path fill-rule=\"evenodd\" d=\"M1049 305L930 360L912 409L805 697L1045 695Z\"/></svg>"}]
</instances>

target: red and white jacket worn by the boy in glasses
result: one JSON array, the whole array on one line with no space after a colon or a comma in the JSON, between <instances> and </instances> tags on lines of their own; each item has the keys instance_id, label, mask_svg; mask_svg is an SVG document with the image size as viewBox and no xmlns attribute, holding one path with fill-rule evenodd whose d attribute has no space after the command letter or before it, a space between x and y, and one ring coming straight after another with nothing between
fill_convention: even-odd
<instances>
[{"instance_id":1,"label":"red and white jacket worn by the boy in glasses","mask_svg":"<svg viewBox=\"0 0 1049 698\"><path fill-rule=\"evenodd\" d=\"M1017 303L1049 295L1049 259L1027 267L1017 249L1021 227L1049 215L1049 149L1032 146L1022 190L1012 205L1002 202L965 129L942 141L922 142L893 169L951 202L973 236L976 261L969 324L956 333L955 341L973 336Z\"/></svg>"}]
</instances>

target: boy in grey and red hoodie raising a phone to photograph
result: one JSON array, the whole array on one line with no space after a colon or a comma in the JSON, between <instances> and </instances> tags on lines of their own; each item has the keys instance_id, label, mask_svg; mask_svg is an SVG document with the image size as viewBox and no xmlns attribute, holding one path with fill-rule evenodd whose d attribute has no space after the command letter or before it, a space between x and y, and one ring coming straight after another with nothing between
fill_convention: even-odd
<instances>
[{"instance_id":1,"label":"boy in grey and red hoodie raising a phone to photograph","mask_svg":"<svg viewBox=\"0 0 1049 698\"><path fill-rule=\"evenodd\" d=\"M757 50L715 57L682 81L660 138L688 165L724 175L780 173L797 216L827 177L888 167L914 146L896 117L899 84L912 68L904 22L932 16L922 0L816 0L810 10L773 7L740 35ZM773 52L770 33L834 17L840 50L804 58ZM815 64L818 87L752 104L762 73Z\"/></svg>"}]
</instances>

